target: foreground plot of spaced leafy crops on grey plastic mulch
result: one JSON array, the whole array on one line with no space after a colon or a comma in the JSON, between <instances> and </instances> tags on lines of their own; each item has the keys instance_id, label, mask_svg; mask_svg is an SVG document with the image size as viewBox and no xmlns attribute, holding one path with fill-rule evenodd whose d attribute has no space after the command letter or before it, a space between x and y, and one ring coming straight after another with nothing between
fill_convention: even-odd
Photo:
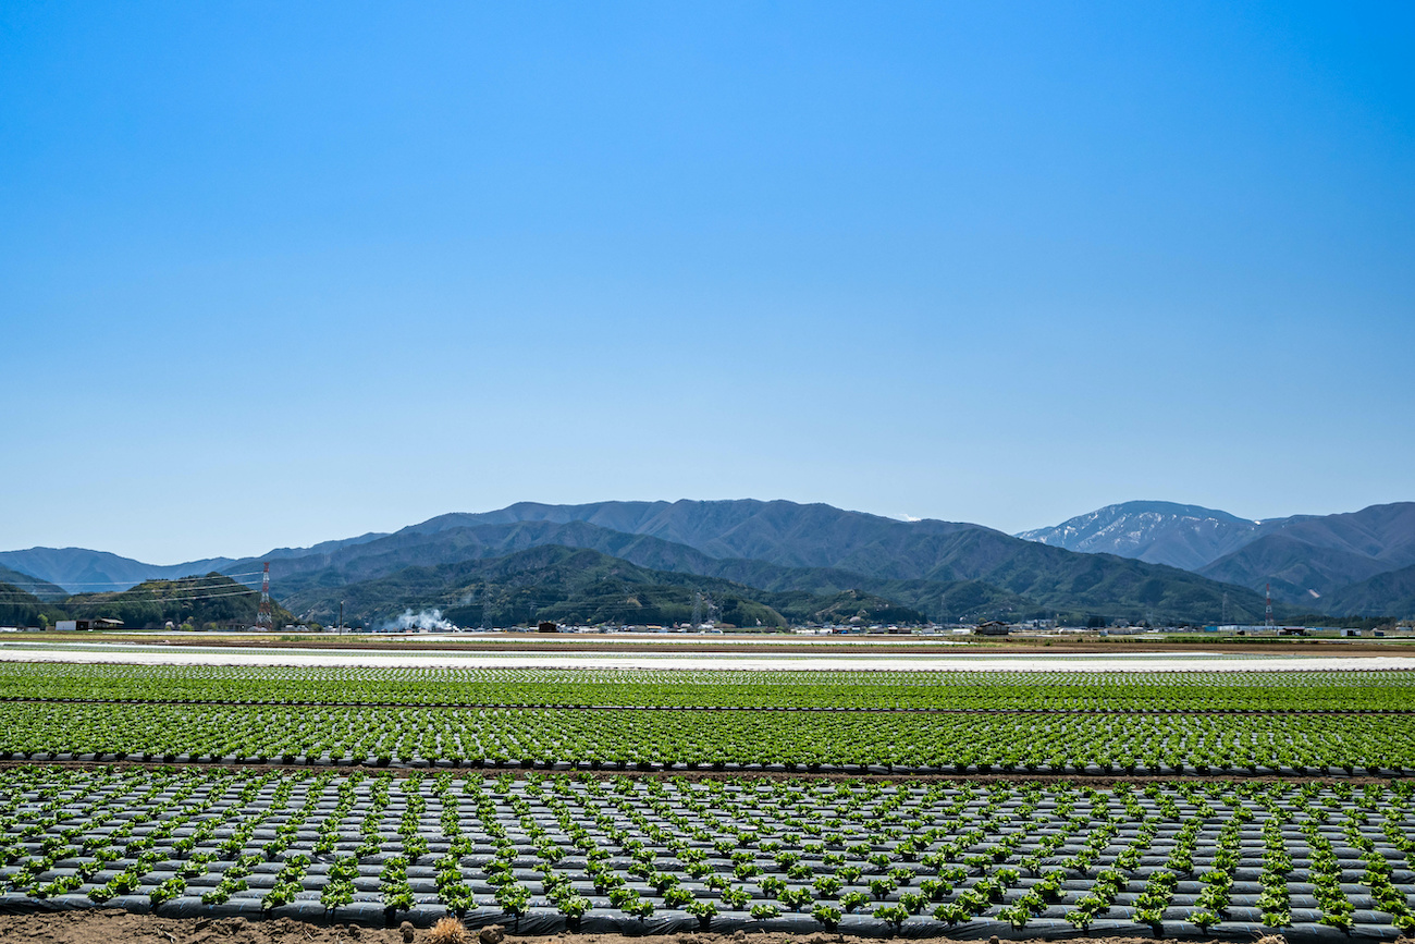
<instances>
[{"instance_id":1,"label":"foreground plot of spaced leafy crops on grey plastic mulch","mask_svg":"<svg viewBox=\"0 0 1415 944\"><path fill-rule=\"evenodd\" d=\"M1415 790L389 771L0 771L0 909L1394 938Z\"/></svg>"}]
</instances>

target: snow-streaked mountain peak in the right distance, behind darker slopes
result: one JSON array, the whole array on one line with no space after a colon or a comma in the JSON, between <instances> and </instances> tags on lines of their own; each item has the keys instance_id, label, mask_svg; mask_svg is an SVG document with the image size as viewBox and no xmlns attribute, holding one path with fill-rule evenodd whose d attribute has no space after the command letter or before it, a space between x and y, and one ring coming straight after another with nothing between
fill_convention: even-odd
<instances>
[{"instance_id":1,"label":"snow-streaked mountain peak in the right distance, behind darker slopes","mask_svg":"<svg viewBox=\"0 0 1415 944\"><path fill-rule=\"evenodd\" d=\"M1227 511L1170 501L1126 501L1017 536L1067 551L1199 570L1286 521L1247 521Z\"/></svg>"}]
</instances>

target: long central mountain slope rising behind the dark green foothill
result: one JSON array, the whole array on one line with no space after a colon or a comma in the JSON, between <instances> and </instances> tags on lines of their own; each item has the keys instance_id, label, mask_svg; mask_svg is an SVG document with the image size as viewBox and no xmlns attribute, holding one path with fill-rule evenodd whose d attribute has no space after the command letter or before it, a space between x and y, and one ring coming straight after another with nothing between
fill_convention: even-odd
<instances>
[{"instance_id":1,"label":"long central mountain slope rising behind the dark green foothill","mask_svg":"<svg viewBox=\"0 0 1415 944\"><path fill-rule=\"evenodd\" d=\"M702 548L613 531L590 519L652 528L691 538ZM406 566L501 556L545 543L590 548L640 566L773 592L890 594L934 618L1061 611L1214 621L1224 611L1225 596L1230 618L1258 618L1262 613L1257 594L1174 568L1073 553L979 525L901 522L792 502L514 505L478 515L443 515L364 545L270 566L277 593L289 594ZM744 548L768 556L716 558L708 548Z\"/></svg>"}]
</instances>

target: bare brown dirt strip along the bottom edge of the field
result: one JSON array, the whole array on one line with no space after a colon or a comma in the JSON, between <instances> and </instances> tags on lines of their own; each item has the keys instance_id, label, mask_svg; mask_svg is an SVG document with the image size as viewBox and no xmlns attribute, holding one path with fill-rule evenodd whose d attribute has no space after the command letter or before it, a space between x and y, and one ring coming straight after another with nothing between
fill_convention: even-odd
<instances>
[{"instance_id":1,"label":"bare brown dirt strip along the bottom edge of the field","mask_svg":"<svg viewBox=\"0 0 1415 944\"><path fill-rule=\"evenodd\" d=\"M490 930L490 928L485 928ZM492 933L481 941L467 931L461 943L453 936L439 937L432 928L366 928L334 924L320 927L291 919L248 921L229 919L167 919L151 914L129 914L119 910L82 910L51 914L0 914L0 941L44 941L45 944L498 944ZM949 938L930 938L949 944ZM998 938L992 938L996 941ZM1179 944L1153 937L1088 937L1087 944ZM1264 938L1268 944L1285 944L1283 938ZM1259 941L1258 944L1264 944ZM1040 944L1009 941L1007 944ZM816 931L788 936L780 933L744 934L678 934L672 937L623 937L618 934L558 934L555 937L516 937L507 934L501 944L880 944L873 938L845 937ZM978 944L976 941L972 944ZM1225 944L1210 938L1208 944ZM1237 943L1235 943L1237 944ZM1244 941L1242 944L1252 944ZM1404 938L1401 944L1415 944Z\"/></svg>"}]
</instances>

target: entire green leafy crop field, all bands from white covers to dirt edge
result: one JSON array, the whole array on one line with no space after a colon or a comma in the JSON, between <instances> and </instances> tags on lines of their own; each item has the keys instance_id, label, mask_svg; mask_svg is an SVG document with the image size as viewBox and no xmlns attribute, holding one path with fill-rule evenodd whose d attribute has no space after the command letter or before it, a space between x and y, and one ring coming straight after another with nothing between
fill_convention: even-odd
<instances>
[{"instance_id":1,"label":"entire green leafy crop field, all bands from white covers to dirt edge","mask_svg":"<svg viewBox=\"0 0 1415 944\"><path fill-rule=\"evenodd\" d=\"M1392 940L1415 672L1346 664L3 662L0 911Z\"/></svg>"}]
</instances>

